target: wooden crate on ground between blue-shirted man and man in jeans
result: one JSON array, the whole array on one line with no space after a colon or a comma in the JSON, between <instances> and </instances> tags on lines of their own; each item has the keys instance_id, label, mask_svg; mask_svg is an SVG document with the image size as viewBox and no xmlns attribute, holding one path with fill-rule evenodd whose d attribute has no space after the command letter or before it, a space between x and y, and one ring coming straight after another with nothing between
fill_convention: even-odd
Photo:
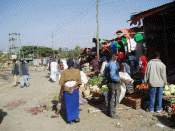
<instances>
[{"instance_id":1,"label":"wooden crate on ground between blue-shirted man and man in jeans","mask_svg":"<svg viewBox=\"0 0 175 131\"><path fill-rule=\"evenodd\" d=\"M133 100L132 97L124 97L121 104L132 107L133 109L140 109L141 108L141 98Z\"/></svg>"}]
</instances>

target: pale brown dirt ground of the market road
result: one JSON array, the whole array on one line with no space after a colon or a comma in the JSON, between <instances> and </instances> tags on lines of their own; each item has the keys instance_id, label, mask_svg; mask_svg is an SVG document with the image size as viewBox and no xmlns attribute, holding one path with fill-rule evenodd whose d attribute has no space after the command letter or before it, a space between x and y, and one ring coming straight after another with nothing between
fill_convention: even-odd
<instances>
[{"instance_id":1,"label":"pale brown dirt ground of the market road","mask_svg":"<svg viewBox=\"0 0 175 131\"><path fill-rule=\"evenodd\" d=\"M4 84L0 87L0 131L172 131L171 122L168 120L168 114L148 113L143 109L120 109L117 114L120 119L111 119L105 112L88 113L89 108L101 109L104 104L80 105L80 123L69 125L64 120L64 113L59 118L51 118L55 112L52 101L60 90L58 80L51 83L47 78L48 71L43 68L30 71L30 87L20 88L12 87L11 84ZM58 79L58 77L57 77ZM21 79L19 79L21 81ZM0 84L1 85L1 84ZM20 100L20 101L18 101ZM14 107L8 106L11 102L21 102L14 104ZM38 113L37 115L28 113L26 109L36 107L37 105L46 105L48 111ZM118 108L126 108L119 104ZM160 127L157 124L162 124Z\"/></svg>"}]
</instances>

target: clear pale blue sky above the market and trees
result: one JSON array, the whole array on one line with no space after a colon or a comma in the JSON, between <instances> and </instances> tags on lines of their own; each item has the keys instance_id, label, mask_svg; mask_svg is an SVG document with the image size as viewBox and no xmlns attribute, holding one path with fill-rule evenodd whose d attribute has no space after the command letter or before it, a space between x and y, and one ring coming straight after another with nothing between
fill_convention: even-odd
<instances>
[{"instance_id":1,"label":"clear pale blue sky above the market and trees","mask_svg":"<svg viewBox=\"0 0 175 131\"><path fill-rule=\"evenodd\" d=\"M132 12L172 1L99 0L99 38L110 40L116 31L134 27L127 22ZM21 41L19 46L94 47L96 14L96 0L0 0L0 50L12 46L10 33L20 33L16 46Z\"/></svg>"}]
</instances>

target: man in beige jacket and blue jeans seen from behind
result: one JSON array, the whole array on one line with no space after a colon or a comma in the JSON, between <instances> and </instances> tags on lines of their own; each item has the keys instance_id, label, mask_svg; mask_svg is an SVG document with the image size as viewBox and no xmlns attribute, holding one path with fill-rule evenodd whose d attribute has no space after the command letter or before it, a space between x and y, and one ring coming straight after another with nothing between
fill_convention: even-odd
<instances>
[{"instance_id":1,"label":"man in beige jacket and blue jeans seen from behind","mask_svg":"<svg viewBox=\"0 0 175 131\"><path fill-rule=\"evenodd\" d=\"M155 52L154 59L147 64L144 83L149 84L149 107L148 112L153 113L162 110L163 87L167 84L166 66L160 60L160 53ZM156 104L155 104L156 101Z\"/></svg>"}]
</instances>

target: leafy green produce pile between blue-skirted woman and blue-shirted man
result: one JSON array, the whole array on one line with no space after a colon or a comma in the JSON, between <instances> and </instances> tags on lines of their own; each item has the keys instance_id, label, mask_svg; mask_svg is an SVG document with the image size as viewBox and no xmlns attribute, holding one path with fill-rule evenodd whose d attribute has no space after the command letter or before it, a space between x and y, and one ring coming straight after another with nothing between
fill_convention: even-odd
<instances>
[{"instance_id":1,"label":"leafy green produce pile between blue-skirted woman and blue-shirted man","mask_svg":"<svg viewBox=\"0 0 175 131\"><path fill-rule=\"evenodd\" d=\"M93 77L92 79L89 79L88 85L91 91L97 93L104 93L108 91L107 80L103 77Z\"/></svg>"}]
</instances>

